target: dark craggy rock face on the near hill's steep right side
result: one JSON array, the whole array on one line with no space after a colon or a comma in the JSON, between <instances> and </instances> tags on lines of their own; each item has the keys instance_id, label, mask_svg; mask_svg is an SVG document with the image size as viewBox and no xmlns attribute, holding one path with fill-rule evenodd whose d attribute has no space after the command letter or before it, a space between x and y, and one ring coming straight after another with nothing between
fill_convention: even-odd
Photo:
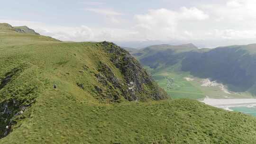
<instances>
[{"instance_id":1,"label":"dark craggy rock face on the near hill's steep right side","mask_svg":"<svg viewBox=\"0 0 256 144\"><path fill-rule=\"evenodd\" d=\"M120 70L126 82L121 84L106 65L101 66L100 72L122 92L125 99L144 101L146 99L167 98L166 92L158 87L152 77L131 54L113 43L102 42L100 44L104 51L110 54L110 61Z\"/></svg>"}]
</instances>

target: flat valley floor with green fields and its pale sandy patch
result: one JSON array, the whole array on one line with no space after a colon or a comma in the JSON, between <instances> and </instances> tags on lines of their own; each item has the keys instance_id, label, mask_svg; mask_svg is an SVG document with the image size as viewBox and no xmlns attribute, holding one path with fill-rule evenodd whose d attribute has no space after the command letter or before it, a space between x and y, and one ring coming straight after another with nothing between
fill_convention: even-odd
<instances>
[{"instance_id":1,"label":"flat valley floor with green fields and its pale sandy patch","mask_svg":"<svg viewBox=\"0 0 256 144\"><path fill-rule=\"evenodd\" d=\"M188 72L173 72L161 70L154 72L146 68L159 86L162 87L173 99L189 98L204 99L253 99L248 92L233 92L227 86L210 79L193 77ZM153 72L152 72L153 71Z\"/></svg>"}]
</instances>

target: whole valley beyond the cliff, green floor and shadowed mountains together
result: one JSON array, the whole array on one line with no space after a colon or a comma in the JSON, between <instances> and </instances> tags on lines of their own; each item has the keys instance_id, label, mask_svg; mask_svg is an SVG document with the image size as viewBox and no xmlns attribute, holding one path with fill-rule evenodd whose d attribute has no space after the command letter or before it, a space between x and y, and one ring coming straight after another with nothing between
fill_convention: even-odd
<instances>
[{"instance_id":1,"label":"whole valley beyond the cliff, green floor and shadowed mountains together","mask_svg":"<svg viewBox=\"0 0 256 144\"><path fill-rule=\"evenodd\" d=\"M152 45L132 54L174 99L253 98L254 46Z\"/></svg>"}]
</instances>

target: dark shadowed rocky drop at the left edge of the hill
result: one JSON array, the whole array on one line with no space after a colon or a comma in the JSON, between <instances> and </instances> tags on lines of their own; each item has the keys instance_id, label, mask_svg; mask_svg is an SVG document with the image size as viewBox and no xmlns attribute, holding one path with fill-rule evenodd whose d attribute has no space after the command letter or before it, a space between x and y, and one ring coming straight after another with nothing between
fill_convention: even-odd
<instances>
[{"instance_id":1,"label":"dark shadowed rocky drop at the left edge of the hill","mask_svg":"<svg viewBox=\"0 0 256 144\"><path fill-rule=\"evenodd\" d=\"M35 87L28 87L19 92L10 90L9 83L15 81L22 71L22 67L14 68L7 72L3 78L0 78L0 138L7 136L12 131L12 126L16 124L17 118L25 118L22 116L23 113L35 102L34 98L20 98L20 95L24 96L24 94L29 95L31 93L36 97L37 88ZM7 97L6 93L10 93L11 97ZM18 117L19 115L21 117Z\"/></svg>"}]
</instances>

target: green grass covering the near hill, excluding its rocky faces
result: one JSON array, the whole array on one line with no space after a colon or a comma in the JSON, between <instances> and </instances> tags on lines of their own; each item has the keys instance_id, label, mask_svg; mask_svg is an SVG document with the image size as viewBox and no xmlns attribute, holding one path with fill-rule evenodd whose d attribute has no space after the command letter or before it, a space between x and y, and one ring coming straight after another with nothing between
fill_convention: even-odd
<instances>
[{"instance_id":1,"label":"green grass covering the near hill, excluding its rocky faces","mask_svg":"<svg viewBox=\"0 0 256 144\"><path fill-rule=\"evenodd\" d=\"M99 103L92 85L98 61L122 79L95 43L0 33L0 77L20 68L0 101L36 98L0 144L253 144L256 119L195 100ZM10 43L11 42L11 43ZM85 72L82 66L90 69ZM86 90L76 82L85 83ZM52 84L57 84L57 90Z\"/></svg>"}]
</instances>

